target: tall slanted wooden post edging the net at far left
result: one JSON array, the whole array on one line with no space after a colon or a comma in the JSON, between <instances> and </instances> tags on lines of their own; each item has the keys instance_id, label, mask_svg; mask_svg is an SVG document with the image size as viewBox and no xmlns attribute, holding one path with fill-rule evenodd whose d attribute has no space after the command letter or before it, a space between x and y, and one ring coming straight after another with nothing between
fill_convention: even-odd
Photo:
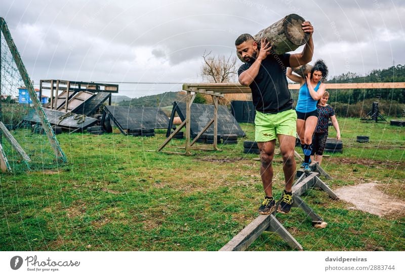
<instances>
[{"instance_id":1,"label":"tall slanted wooden post edging the net at far left","mask_svg":"<svg viewBox=\"0 0 405 276\"><path fill-rule=\"evenodd\" d=\"M47 120L47 116L44 112L44 108L42 107L41 102L36 97L34 87L32 86L28 72L24 66L24 63L22 62L20 53L17 50L17 46L14 44L13 38L11 36L9 28L7 27L6 21L2 17L0 17L0 26L2 28L2 32L7 42L7 45L9 46L10 52L13 55L14 61L18 67L20 75L24 81L24 85L27 88L28 94L32 99L32 104L35 108L36 113L38 114L39 121L41 121L45 133L48 136L49 142L51 143L51 146L55 152L56 159L57 161L66 162L66 155L63 153L59 145L59 142L56 139L55 133L51 127L51 124Z\"/></svg>"}]
</instances>

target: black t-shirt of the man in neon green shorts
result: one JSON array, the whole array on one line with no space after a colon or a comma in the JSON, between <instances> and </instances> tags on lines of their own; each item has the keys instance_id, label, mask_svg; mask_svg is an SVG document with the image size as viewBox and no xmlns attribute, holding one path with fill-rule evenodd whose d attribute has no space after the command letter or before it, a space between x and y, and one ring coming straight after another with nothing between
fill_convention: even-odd
<instances>
[{"instance_id":1,"label":"black t-shirt of the man in neon green shorts","mask_svg":"<svg viewBox=\"0 0 405 276\"><path fill-rule=\"evenodd\" d=\"M249 69L251 63L242 64L237 73ZM271 54L262 61L259 73L250 85L253 105L262 113L278 113L293 108L293 98L286 78L290 67L290 54Z\"/></svg>"}]
</instances>

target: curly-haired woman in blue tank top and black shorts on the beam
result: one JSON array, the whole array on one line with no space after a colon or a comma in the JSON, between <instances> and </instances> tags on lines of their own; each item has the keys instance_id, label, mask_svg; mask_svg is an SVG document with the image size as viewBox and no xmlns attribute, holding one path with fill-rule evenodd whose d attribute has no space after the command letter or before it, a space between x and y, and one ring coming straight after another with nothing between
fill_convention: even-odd
<instances>
[{"instance_id":1,"label":"curly-haired woman in blue tank top and black shorts on the beam","mask_svg":"<svg viewBox=\"0 0 405 276\"><path fill-rule=\"evenodd\" d=\"M327 76L328 67L321 59L315 62L311 72L305 78L293 74L291 68L287 69L287 77L301 85L295 110L297 112L297 133L304 151L304 163L301 168L304 168L305 172L311 171L309 164L311 163L312 135L318 122L316 103L325 93L326 86L323 81Z\"/></svg>"}]
</instances>

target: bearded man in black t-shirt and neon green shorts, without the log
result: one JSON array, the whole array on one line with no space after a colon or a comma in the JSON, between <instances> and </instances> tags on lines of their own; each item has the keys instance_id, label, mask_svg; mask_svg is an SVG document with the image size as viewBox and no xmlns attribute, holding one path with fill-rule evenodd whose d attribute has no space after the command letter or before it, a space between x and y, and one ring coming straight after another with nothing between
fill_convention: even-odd
<instances>
[{"instance_id":1,"label":"bearded man in black t-shirt and neon green shorts, without the log","mask_svg":"<svg viewBox=\"0 0 405 276\"><path fill-rule=\"evenodd\" d=\"M277 212L287 214L293 204L292 185L296 163L294 148L296 141L297 113L293 110L293 99L288 89L287 67L298 67L311 61L313 55L313 27L309 21L302 24L309 39L302 53L280 54L272 51L266 38L260 46L250 34L241 34L235 41L239 56L245 61L238 69L239 83L252 89L253 104L256 108L255 140L260 150L260 175L265 198L259 207L260 214L270 214L275 210L272 192L275 139L278 138L282 155L286 187L282 192Z\"/></svg>"}]
</instances>

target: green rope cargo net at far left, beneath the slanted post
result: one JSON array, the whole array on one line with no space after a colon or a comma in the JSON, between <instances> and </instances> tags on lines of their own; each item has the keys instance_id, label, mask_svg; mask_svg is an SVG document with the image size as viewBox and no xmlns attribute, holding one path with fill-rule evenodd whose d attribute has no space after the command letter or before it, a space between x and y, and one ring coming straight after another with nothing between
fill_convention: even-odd
<instances>
[{"instance_id":1,"label":"green rope cargo net at far left, beneath the slanted post","mask_svg":"<svg viewBox=\"0 0 405 276\"><path fill-rule=\"evenodd\" d=\"M0 128L0 143L7 170L12 173L20 173L28 170L56 168L60 164L56 162L55 152L41 123L31 120L36 113L32 99L28 95L28 90L24 88L23 78L3 32L0 31L0 34L2 96L0 121L12 135L10 138L10 135ZM18 148L13 137L23 151ZM25 152L26 155L24 156L21 152Z\"/></svg>"}]
</instances>

